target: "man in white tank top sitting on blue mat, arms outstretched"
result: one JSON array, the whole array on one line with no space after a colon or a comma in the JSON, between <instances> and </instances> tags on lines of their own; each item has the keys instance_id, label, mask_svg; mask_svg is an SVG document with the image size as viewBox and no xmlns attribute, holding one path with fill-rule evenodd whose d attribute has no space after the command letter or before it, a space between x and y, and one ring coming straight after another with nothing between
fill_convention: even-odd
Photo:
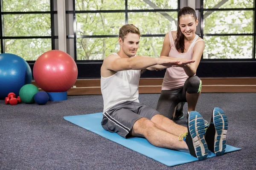
<instances>
[{"instance_id":1,"label":"man in white tank top sitting on blue mat, arms outstretched","mask_svg":"<svg viewBox=\"0 0 256 170\"><path fill-rule=\"evenodd\" d=\"M132 24L122 26L119 30L120 51L109 55L103 61L102 127L124 138L145 137L154 146L186 151L199 160L207 158L208 147L216 155L222 155L226 148L227 119L221 109L213 110L211 125L205 134L204 119L196 111L189 114L188 126L184 127L139 103L138 87L141 71L161 70L195 62L187 59L136 56L139 42L140 31L136 26ZM223 120L222 123L220 120ZM218 123L218 126L215 123Z\"/></svg>"}]
</instances>

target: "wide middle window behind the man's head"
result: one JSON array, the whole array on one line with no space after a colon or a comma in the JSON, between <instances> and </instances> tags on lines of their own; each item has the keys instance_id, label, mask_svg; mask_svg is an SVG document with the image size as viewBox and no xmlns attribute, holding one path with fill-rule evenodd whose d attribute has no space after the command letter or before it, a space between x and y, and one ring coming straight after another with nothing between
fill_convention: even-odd
<instances>
[{"instance_id":1,"label":"wide middle window behind the man's head","mask_svg":"<svg viewBox=\"0 0 256 170\"><path fill-rule=\"evenodd\" d=\"M102 60L119 51L118 31L132 23L142 34L138 55L159 57L165 34L177 29L177 0L76 0L75 59ZM73 38L72 36L69 36Z\"/></svg>"}]
</instances>

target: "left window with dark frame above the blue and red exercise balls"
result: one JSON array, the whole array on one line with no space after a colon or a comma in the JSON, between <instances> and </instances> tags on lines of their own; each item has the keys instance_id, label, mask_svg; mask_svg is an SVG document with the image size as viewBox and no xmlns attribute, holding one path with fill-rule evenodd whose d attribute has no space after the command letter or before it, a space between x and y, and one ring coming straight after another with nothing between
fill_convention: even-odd
<instances>
[{"instance_id":1,"label":"left window with dark frame above the blue and red exercise balls","mask_svg":"<svg viewBox=\"0 0 256 170\"><path fill-rule=\"evenodd\" d=\"M53 0L1 0L1 53L36 60L55 48Z\"/></svg>"}]
</instances>

